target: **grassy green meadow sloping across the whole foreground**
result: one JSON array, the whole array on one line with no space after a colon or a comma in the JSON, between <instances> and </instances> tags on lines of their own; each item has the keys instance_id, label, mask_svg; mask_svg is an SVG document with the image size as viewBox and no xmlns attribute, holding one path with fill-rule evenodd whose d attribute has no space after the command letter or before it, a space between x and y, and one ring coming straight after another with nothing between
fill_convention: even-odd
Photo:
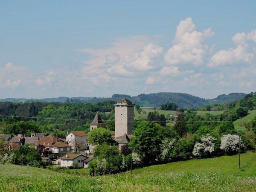
<instances>
[{"instance_id":1,"label":"grassy green meadow sloping across the whole foreground","mask_svg":"<svg viewBox=\"0 0 256 192\"><path fill-rule=\"evenodd\" d=\"M0 165L0 191L148 192L256 191L256 153L188 160L108 176L81 176L12 164Z\"/></svg>"}]
</instances>

